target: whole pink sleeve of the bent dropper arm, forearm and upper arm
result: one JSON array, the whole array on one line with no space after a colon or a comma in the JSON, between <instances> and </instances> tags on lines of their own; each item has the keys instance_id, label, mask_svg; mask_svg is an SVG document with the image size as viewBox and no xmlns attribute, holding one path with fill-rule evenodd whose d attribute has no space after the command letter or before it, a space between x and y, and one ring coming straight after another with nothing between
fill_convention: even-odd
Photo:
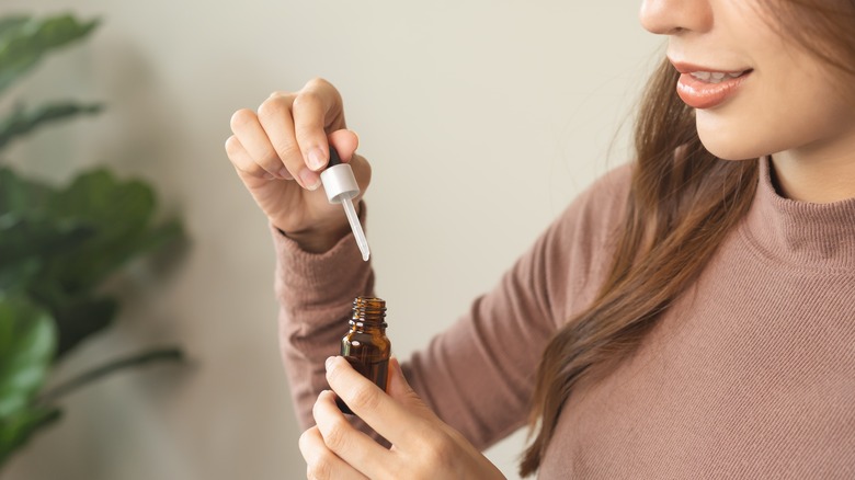
<instances>
[{"instance_id":1,"label":"whole pink sleeve of the bent dropper arm, forearm and upper arm","mask_svg":"<svg viewBox=\"0 0 855 480\"><path fill-rule=\"evenodd\" d=\"M577 198L491 292L402 362L415 392L478 448L526 422L544 347L595 293L608 227L625 193L608 186L615 176ZM327 388L323 361L338 348L351 301L372 293L374 277L350 236L319 255L277 231L274 239L282 353L298 418L309 426L311 407Z\"/></svg>"}]
</instances>

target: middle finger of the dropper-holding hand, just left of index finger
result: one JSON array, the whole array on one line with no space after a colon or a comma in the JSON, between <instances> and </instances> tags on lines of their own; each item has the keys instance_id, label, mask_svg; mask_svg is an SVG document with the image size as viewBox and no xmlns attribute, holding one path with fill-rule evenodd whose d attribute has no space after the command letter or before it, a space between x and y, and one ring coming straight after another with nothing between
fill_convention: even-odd
<instances>
[{"instance_id":1,"label":"middle finger of the dropper-holding hand, just left of index finger","mask_svg":"<svg viewBox=\"0 0 855 480\"><path fill-rule=\"evenodd\" d=\"M259 123L270 138L280 160L278 175L290 176L308 190L320 186L320 176L306 167L306 160L294 135L294 95L274 93L259 106Z\"/></svg>"}]
</instances>

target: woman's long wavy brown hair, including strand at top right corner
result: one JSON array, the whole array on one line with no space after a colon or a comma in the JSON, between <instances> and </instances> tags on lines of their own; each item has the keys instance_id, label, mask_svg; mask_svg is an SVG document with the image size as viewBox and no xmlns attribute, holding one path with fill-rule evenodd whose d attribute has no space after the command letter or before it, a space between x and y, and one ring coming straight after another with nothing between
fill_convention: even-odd
<instances>
[{"instance_id":1,"label":"woman's long wavy brown hair, including strand at top right corner","mask_svg":"<svg viewBox=\"0 0 855 480\"><path fill-rule=\"evenodd\" d=\"M778 3L778 2L775 2ZM855 77L855 0L787 0L778 25L832 68ZM777 7L777 5L776 5ZM679 73L663 61L643 94L636 159L614 263L591 306L547 345L529 415L534 439L520 473L535 472L575 385L634 351L662 312L699 275L748 212L756 161L725 161L697 136L694 110L675 94Z\"/></svg>"}]
</instances>

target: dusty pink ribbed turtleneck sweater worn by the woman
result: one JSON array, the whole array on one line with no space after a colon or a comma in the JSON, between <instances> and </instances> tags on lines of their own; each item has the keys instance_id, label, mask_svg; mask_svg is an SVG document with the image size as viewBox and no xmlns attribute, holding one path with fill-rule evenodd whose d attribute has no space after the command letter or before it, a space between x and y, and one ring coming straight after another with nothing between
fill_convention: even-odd
<instances>
[{"instance_id":1,"label":"dusty pink ribbed turtleneck sweater worn by the woman","mask_svg":"<svg viewBox=\"0 0 855 480\"><path fill-rule=\"evenodd\" d=\"M635 355L565 405L539 478L855 478L855 199L782 198L761 163L749 215L698 281ZM628 180L623 167L596 182L404 363L476 446L524 424L543 347L609 265ZM320 255L274 239L282 353L308 426L323 361L374 276L352 238Z\"/></svg>"}]
</instances>

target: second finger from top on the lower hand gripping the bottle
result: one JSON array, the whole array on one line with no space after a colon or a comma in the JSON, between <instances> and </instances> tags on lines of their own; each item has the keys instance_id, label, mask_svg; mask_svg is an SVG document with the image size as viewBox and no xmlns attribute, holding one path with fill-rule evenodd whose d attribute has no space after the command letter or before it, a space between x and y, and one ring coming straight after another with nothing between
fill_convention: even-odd
<instances>
[{"instance_id":1,"label":"second finger from top on the lower hand gripping the bottle","mask_svg":"<svg viewBox=\"0 0 855 480\"><path fill-rule=\"evenodd\" d=\"M318 396L312 415L323 443L339 458L369 478L376 478L378 466L391 460L389 450L356 430L335 404L335 393L326 390Z\"/></svg>"}]
</instances>

